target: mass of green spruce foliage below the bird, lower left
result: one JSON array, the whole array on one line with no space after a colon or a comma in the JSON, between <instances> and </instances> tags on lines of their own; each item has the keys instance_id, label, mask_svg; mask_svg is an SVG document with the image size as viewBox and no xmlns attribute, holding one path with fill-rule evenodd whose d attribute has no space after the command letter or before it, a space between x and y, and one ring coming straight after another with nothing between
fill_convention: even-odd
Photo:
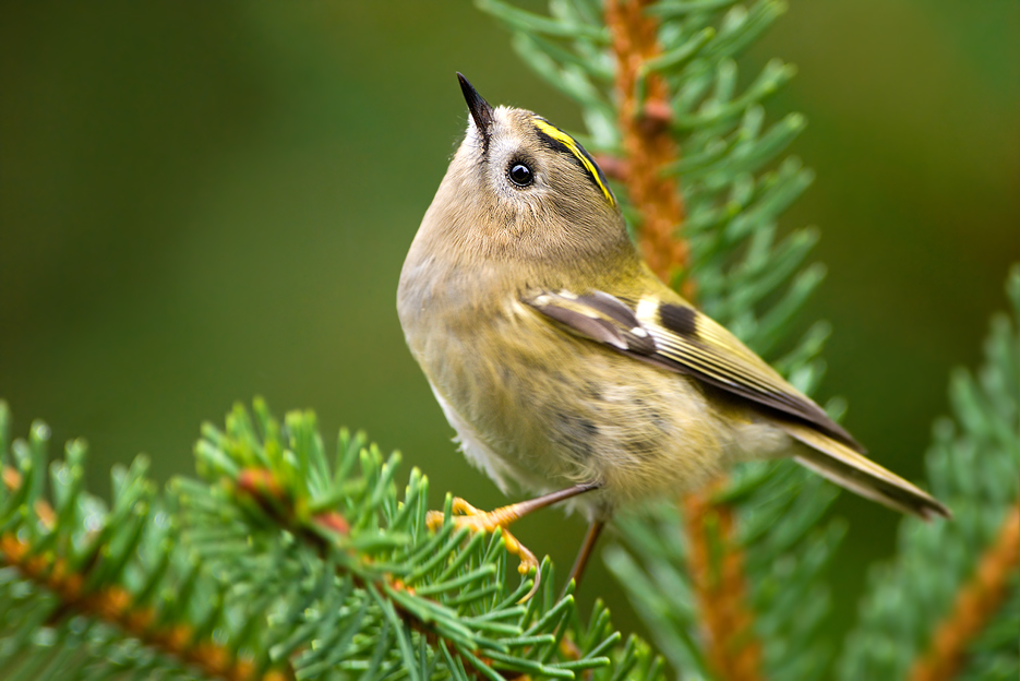
<instances>
[{"instance_id":1,"label":"mass of green spruce foliage below the bird, lower left","mask_svg":"<svg viewBox=\"0 0 1020 681\"><path fill-rule=\"evenodd\" d=\"M3 407L4 443L9 422ZM157 494L140 458L115 470L109 510L82 486L81 442L45 493L47 438L36 423L11 445L20 480L0 498L4 678L659 676L603 606L580 625L548 561L521 605L531 581L506 588L499 533L429 530L428 479L412 470L398 498L398 454L341 431L331 463L312 414L280 425L261 402L254 418L237 407L225 430L203 429L203 480Z\"/></svg>"}]
</instances>

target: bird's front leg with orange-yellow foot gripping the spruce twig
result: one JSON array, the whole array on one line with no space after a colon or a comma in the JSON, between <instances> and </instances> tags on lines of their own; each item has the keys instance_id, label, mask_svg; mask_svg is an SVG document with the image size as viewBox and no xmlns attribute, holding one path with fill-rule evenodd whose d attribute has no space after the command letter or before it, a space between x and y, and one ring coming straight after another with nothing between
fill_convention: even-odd
<instances>
[{"instance_id":1,"label":"bird's front leg with orange-yellow foot gripping the spruce twig","mask_svg":"<svg viewBox=\"0 0 1020 681\"><path fill-rule=\"evenodd\" d=\"M523 518L529 513L533 513L545 506L551 506L554 503L565 501L572 497L577 497L578 494L584 494L585 492L590 492L591 490L598 489L601 485L598 483L581 483L575 485L574 487L568 487L562 489L557 492L552 492L550 494L543 494L542 497L537 497L535 499L529 499L528 501L521 501L508 506L501 506L494 511L479 511L465 500L459 497L454 498L453 512L457 515L454 515L451 519L457 527L468 527L475 531L495 531L496 528L503 531L503 540L506 543L507 552L516 555L520 559L520 565L517 568L517 571L526 575L532 568L536 569L535 573L535 584L531 586L531 590L521 599L521 601L528 600L538 590L539 585L539 572L538 572L538 560L535 558L528 547L524 546L517 538L514 537L507 529L512 523ZM435 529L443 525L444 514L442 511L430 511L425 516L425 523L430 529ZM593 543L593 541L592 541Z\"/></svg>"}]
</instances>

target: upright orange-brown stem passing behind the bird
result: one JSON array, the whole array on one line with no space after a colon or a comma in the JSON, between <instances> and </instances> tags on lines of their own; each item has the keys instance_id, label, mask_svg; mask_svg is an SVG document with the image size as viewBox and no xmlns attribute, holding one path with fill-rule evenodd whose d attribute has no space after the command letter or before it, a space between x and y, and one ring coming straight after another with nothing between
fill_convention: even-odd
<instances>
[{"instance_id":1,"label":"upright orange-brown stem passing behind the bird","mask_svg":"<svg viewBox=\"0 0 1020 681\"><path fill-rule=\"evenodd\" d=\"M616 56L616 94L625 158L619 160L627 194L640 214L640 248L652 271L673 280L688 264L689 251L680 235L684 205L680 187L662 169L674 164L680 148L669 121L669 88L656 73L645 81L645 99L636 98L643 65L660 53L658 23L645 14L640 0L610 0L605 23ZM685 277L682 291L693 300L695 282ZM761 677L760 643L753 635L747 607L744 555L734 540L732 509L711 501L722 480L682 501L691 547L691 580L704 628L705 654L719 679L755 680Z\"/></svg>"}]
</instances>

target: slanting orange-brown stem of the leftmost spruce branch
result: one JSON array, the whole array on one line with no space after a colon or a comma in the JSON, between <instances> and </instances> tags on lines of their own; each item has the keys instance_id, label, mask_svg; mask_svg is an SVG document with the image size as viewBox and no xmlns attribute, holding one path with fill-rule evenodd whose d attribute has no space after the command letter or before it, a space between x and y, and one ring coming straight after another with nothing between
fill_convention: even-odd
<instances>
[{"instance_id":1,"label":"slanting orange-brown stem of the leftmost spruce branch","mask_svg":"<svg viewBox=\"0 0 1020 681\"><path fill-rule=\"evenodd\" d=\"M21 487L21 475L10 466L2 469L3 485L9 491ZM56 523L52 507L44 500L35 503L39 522L47 527ZM113 624L142 644L172 657L184 665L201 669L206 676L226 681L286 681L293 674L269 670L256 676L251 660L239 658L229 648L211 638L196 641L194 628L187 623L157 624L153 608L140 607L131 594L120 586L85 590L87 572L73 572L59 555L37 553L33 546L14 533L0 535L0 564L11 565L27 580L46 588L60 599L59 616L84 614Z\"/></svg>"}]
</instances>

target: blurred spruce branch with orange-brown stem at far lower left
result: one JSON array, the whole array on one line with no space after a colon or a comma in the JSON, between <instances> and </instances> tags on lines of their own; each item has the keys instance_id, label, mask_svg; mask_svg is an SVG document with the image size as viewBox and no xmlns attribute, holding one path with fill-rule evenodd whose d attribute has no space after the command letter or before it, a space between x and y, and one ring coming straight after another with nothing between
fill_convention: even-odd
<instances>
[{"instance_id":1,"label":"blurred spruce branch with orange-brown stem at far lower left","mask_svg":"<svg viewBox=\"0 0 1020 681\"><path fill-rule=\"evenodd\" d=\"M33 423L10 447L10 413L0 402L0 671L13 678L89 678L159 667L166 673L227 681L284 681L286 667L241 650L243 636L214 637L223 610L189 612L184 595L214 595L173 540L144 480L146 462L116 469L107 511L84 490L86 447L68 443L50 466L56 504L43 494L49 429ZM9 463L13 458L13 462ZM178 587L178 598L170 592ZM216 596L214 595L214 598ZM204 610L204 611L203 611ZM132 642L142 646L136 648ZM57 652L52 655L51 652Z\"/></svg>"}]
</instances>

